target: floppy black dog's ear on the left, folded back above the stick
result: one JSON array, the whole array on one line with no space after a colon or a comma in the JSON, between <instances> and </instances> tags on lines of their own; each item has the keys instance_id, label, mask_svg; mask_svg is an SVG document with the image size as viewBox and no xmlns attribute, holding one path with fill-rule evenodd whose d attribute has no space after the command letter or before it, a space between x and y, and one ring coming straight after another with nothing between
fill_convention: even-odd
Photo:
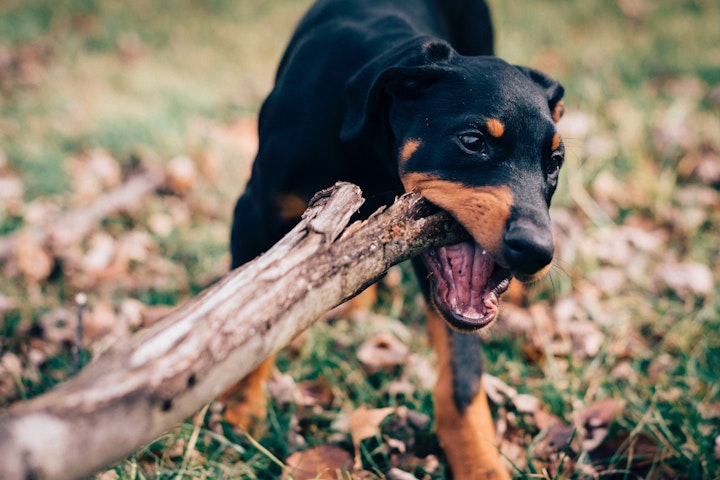
<instances>
[{"instance_id":1,"label":"floppy black dog's ear on the left, folded back above the stick","mask_svg":"<svg viewBox=\"0 0 720 480\"><path fill-rule=\"evenodd\" d=\"M411 98L432 85L454 54L447 42L414 38L373 59L346 84L340 138L350 140L359 135L387 98Z\"/></svg>"}]
</instances>

